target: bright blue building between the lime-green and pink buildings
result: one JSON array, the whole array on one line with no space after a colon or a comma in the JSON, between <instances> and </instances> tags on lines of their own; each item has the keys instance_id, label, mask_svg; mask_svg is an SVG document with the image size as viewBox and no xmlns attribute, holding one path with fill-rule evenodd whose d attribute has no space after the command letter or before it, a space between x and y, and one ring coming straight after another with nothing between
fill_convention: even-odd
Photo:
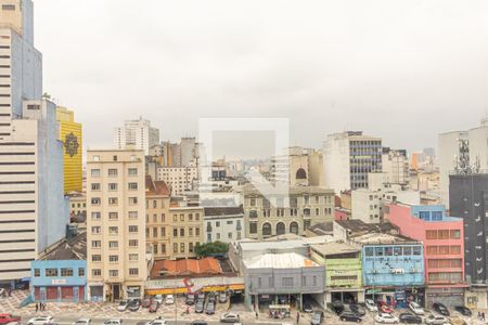
<instances>
[{"instance_id":1,"label":"bright blue building between the lime-green and pink buildings","mask_svg":"<svg viewBox=\"0 0 488 325\"><path fill-rule=\"evenodd\" d=\"M406 306L409 297L422 299L424 251L419 244L371 244L362 247L365 294L391 306ZM376 297L378 298L378 297Z\"/></svg>"}]
</instances>

